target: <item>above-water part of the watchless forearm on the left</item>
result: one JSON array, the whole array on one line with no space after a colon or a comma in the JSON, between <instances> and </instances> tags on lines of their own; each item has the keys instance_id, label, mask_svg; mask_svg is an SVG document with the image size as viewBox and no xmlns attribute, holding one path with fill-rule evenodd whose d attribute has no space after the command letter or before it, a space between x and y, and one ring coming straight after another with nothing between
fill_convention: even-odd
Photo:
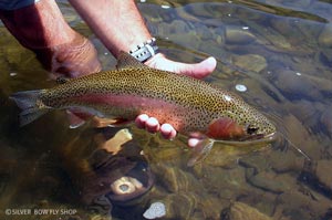
<instances>
[{"instance_id":1,"label":"above-water part of the watchless forearm on the left","mask_svg":"<svg viewBox=\"0 0 332 220\"><path fill-rule=\"evenodd\" d=\"M0 19L29 49L60 45L75 38L53 0L42 0L17 10L0 10Z\"/></svg>"}]
</instances>

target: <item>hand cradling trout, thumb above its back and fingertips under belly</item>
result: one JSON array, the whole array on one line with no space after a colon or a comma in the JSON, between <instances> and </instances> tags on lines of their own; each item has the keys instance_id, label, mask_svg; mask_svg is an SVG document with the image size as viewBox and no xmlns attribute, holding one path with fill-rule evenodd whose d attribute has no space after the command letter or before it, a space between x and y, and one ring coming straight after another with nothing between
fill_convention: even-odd
<instances>
[{"instance_id":1,"label":"hand cradling trout, thumb above its back and fingertips under belly","mask_svg":"<svg viewBox=\"0 0 332 220\"><path fill-rule=\"evenodd\" d=\"M149 67L185 74L196 78L203 78L216 69L217 61L215 57L208 57L200 63L187 64L170 61L165 57L164 54L158 53L151 60L148 60L145 64ZM137 116L135 119L135 124L138 128L145 128L151 133L160 132L162 136L166 139L173 139L176 136L176 130L172 125L160 125L155 117L149 117L146 114ZM199 143L200 137L198 136L190 136L188 139L189 147L196 147Z\"/></svg>"}]
</instances>

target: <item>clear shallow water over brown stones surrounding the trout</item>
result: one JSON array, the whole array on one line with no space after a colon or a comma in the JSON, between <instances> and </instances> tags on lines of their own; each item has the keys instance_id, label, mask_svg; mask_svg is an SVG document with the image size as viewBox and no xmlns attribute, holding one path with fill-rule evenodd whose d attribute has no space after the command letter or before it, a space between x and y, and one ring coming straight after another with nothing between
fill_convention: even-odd
<instances>
[{"instance_id":1,"label":"clear shallow water over brown stones surrounding the trout","mask_svg":"<svg viewBox=\"0 0 332 220\"><path fill-rule=\"evenodd\" d=\"M70 24L93 40L104 69L112 67L114 60L86 25L65 1L60 6ZM304 0L146 1L139 9L164 53L186 62L216 56L218 67L206 80L234 91L267 114L288 140L249 149L218 145L203 165L188 168L189 150L181 138L168 142L132 128L135 144L125 147L120 157L123 161L105 159L95 150L112 132L103 130L101 136L100 129L90 126L69 129L60 112L19 128L18 109L8 95L53 82L34 55L1 25L1 211L75 210L75 218L89 219L93 209L107 216L107 202L96 202L94 208L80 202L83 192L104 193L96 190L104 184L101 176L89 172L86 163L105 168L97 170L114 179L133 167L138 167L134 170L142 177L137 170L147 170L148 164L153 188L129 202L112 201L113 219L143 218L154 201L168 208L165 218L169 219L236 219L237 214L252 214L252 219L260 214L272 219L331 218L332 4ZM237 91L237 85L247 90Z\"/></svg>"}]
</instances>

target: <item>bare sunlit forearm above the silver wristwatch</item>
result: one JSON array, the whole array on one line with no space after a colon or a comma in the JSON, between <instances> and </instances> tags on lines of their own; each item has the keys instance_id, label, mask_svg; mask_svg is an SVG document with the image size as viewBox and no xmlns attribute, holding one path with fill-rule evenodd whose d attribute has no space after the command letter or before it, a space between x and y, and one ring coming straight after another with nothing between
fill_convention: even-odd
<instances>
[{"instance_id":1,"label":"bare sunlit forearm above the silver wristwatch","mask_svg":"<svg viewBox=\"0 0 332 220\"><path fill-rule=\"evenodd\" d=\"M70 2L115 56L152 38L133 0Z\"/></svg>"}]
</instances>

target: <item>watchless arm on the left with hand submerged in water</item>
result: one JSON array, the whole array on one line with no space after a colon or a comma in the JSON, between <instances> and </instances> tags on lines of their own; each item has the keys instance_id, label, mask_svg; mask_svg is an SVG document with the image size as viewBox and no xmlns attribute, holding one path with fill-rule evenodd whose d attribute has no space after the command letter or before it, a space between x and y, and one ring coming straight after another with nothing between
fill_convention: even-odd
<instances>
[{"instance_id":1,"label":"watchless arm on the left with hand submerged in water","mask_svg":"<svg viewBox=\"0 0 332 220\"><path fill-rule=\"evenodd\" d=\"M51 73L75 77L101 70L94 45L71 29L54 0L31 2L13 10L0 9L0 19Z\"/></svg>"}]
</instances>

